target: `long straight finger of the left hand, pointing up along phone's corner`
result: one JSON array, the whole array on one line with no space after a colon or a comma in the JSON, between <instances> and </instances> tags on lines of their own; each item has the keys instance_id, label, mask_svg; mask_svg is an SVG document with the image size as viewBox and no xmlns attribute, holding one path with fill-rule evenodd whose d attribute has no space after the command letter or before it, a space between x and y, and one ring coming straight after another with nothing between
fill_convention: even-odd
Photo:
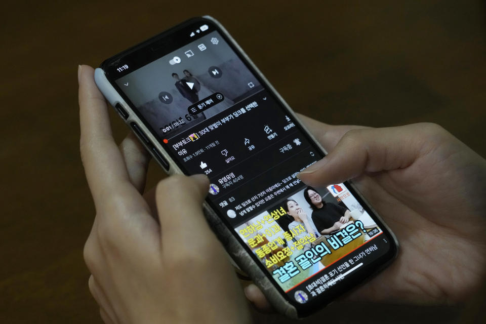
<instances>
[{"instance_id":1,"label":"long straight finger of the left hand, pointing up along phone's corner","mask_svg":"<svg viewBox=\"0 0 486 324\"><path fill-rule=\"evenodd\" d=\"M81 157L95 205L99 206L130 178L111 135L108 107L94 82L93 68L79 66L78 78Z\"/></svg>"}]
</instances>

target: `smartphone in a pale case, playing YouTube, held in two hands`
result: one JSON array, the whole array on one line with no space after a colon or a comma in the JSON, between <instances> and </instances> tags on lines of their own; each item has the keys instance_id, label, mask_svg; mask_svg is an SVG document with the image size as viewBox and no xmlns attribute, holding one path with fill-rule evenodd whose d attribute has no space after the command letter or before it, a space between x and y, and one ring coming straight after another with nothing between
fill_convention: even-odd
<instances>
[{"instance_id":1,"label":"smartphone in a pale case, playing YouTube, held in two hands","mask_svg":"<svg viewBox=\"0 0 486 324\"><path fill-rule=\"evenodd\" d=\"M209 177L209 224L279 312L307 316L396 257L395 236L351 182L296 178L326 151L214 18L105 60L95 80L169 174Z\"/></svg>"}]
</instances>

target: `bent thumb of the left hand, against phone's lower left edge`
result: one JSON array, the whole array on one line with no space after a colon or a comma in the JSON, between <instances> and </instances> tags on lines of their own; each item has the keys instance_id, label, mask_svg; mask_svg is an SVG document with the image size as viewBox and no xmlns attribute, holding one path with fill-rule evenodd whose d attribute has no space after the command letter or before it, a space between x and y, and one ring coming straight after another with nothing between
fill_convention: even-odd
<instances>
[{"instance_id":1,"label":"bent thumb of the left hand, against phone's lower left edge","mask_svg":"<svg viewBox=\"0 0 486 324\"><path fill-rule=\"evenodd\" d=\"M185 240L186 246L199 246L211 233L203 216L203 201L208 194L209 179L205 175L175 175L157 185L155 201L165 242ZM212 233L211 233L212 234Z\"/></svg>"}]
</instances>

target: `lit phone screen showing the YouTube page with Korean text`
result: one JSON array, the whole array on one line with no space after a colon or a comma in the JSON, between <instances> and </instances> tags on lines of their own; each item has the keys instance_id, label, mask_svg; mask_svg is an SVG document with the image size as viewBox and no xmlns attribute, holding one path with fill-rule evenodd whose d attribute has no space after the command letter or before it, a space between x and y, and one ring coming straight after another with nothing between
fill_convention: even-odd
<instances>
[{"instance_id":1,"label":"lit phone screen showing the YouTube page with Korean text","mask_svg":"<svg viewBox=\"0 0 486 324\"><path fill-rule=\"evenodd\" d=\"M345 183L297 179L322 153L218 31L115 83L181 169L209 177L211 205L292 303L388 251Z\"/></svg>"}]
</instances>

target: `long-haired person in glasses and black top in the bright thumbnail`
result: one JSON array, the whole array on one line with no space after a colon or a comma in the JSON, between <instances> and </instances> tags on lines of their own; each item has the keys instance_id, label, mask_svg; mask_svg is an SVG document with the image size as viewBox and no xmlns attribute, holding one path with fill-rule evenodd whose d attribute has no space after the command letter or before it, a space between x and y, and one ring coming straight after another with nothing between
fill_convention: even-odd
<instances>
[{"instance_id":1,"label":"long-haired person in glasses and black top in the bright thumbnail","mask_svg":"<svg viewBox=\"0 0 486 324\"><path fill-rule=\"evenodd\" d=\"M312 208L312 222L322 235L337 231L349 222L351 213L348 209L333 203L326 203L314 188L310 186L305 188L304 198Z\"/></svg>"}]
</instances>

